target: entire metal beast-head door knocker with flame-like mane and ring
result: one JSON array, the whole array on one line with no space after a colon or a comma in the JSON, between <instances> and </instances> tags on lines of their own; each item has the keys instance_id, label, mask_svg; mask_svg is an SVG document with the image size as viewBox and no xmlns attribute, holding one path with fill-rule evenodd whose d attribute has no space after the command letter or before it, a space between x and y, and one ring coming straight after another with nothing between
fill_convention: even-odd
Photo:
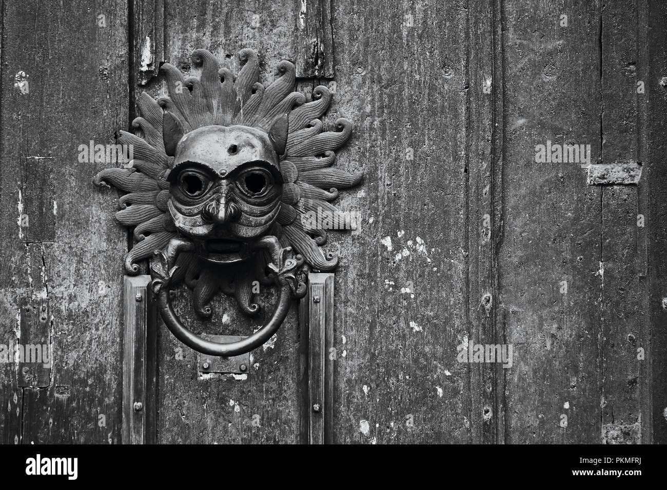
<instances>
[{"instance_id":1,"label":"entire metal beast-head door knocker with flame-like mane and ring","mask_svg":"<svg viewBox=\"0 0 667 490\"><path fill-rule=\"evenodd\" d=\"M127 193L116 213L119 223L135 227L127 273L138 273L137 261L151 257L153 292L169 330L196 351L227 357L271 338L290 301L305 294L304 263L336 267L338 258L320 249L325 229L305 226L302 217L318 210L342 215L329 201L363 176L331 167L352 124L338 119L336 131L322 132L318 118L331 101L326 87L316 87L305 103L293 91L292 63L281 61L280 76L265 88L257 82L256 53L243 49L239 57L244 64L236 79L204 49L191 57L199 79L163 65L169 97L155 101L142 93L132 124L137 135L120 132L118 142L131 145L134 159L95 177L97 185ZM202 318L211 317L218 290L253 315L259 311L254 281L279 289L277 305L268 323L241 341L193 334L169 303L169 290L185 283Z\"/></svg>"}]
</instances>

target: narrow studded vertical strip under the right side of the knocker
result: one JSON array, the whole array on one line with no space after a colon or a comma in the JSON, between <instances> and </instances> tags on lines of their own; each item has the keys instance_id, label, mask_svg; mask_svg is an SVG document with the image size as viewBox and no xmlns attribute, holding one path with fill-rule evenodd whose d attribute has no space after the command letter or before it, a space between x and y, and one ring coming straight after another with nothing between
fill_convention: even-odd
<instances>
[{"instance_id":1,"label":"narrow studded vertical strip under the right side of the knocker","mask_svg":"<svg viewBox=\"0 0 667 490\"><path fill-rule=\"evenodd\" d=\"M299 307L301 442L307 444L333 443L333 278L331 273L310 273Z\"/></svg>"}]
</instances>

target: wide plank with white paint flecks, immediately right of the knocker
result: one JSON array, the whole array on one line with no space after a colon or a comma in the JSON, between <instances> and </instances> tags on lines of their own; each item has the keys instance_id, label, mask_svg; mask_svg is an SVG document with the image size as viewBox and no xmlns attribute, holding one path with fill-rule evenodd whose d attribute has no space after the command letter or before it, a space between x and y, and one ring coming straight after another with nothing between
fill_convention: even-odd
<instances>
[{"instance_id":1,"label":"wide plank with white paint flecks, immediately right of the knocker","mask_svg":"<svg viewBox=\"0 0 667 490\"><path fill-rule=\"evenodd\" d=\"M360 233L329 233L341 257L336 443L479 441L472 366L456 359L469 329L467 7L333 2L337 113L327 121L352 121L336 166L364 171L336 203L362 213Z\"/></svg>"}]
</instances>

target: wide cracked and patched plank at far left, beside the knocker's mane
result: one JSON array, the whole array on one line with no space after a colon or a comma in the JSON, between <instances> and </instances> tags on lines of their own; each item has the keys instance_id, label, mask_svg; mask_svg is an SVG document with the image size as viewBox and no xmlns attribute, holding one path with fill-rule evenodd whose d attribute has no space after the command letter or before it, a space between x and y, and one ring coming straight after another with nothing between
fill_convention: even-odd
<instances>
[{"instance_id":1,"label":"wide cracked and patched plank at far left, beside the knocker's mane","mask_svg":"<svg viewBox=\"0 0 667 490\"><path fill-rule=\"evenodd\" d=\"M17 366L3 367L0 401L16 415L3 422L0 439L120 442L125 234L113 223L115 192L97 191L91 178L98 168L77 160L79 145L113 143L115 130L127 127L127 4L3 2L2 21L0 342L17 336L19 308L39 285L54 359L49 383L37 389L17 391ZM51 169L35 163L43 157ZM21 162L29 164L23 173ZM26 187L51 202L29 205L39 212L27 216L24 230L19 191ZM25 240L35 242L36 258ZM29 260L41 262L32 285L37 264ZM21 341L34 342L30 334Z\"/></svg>"}]
</instances>

